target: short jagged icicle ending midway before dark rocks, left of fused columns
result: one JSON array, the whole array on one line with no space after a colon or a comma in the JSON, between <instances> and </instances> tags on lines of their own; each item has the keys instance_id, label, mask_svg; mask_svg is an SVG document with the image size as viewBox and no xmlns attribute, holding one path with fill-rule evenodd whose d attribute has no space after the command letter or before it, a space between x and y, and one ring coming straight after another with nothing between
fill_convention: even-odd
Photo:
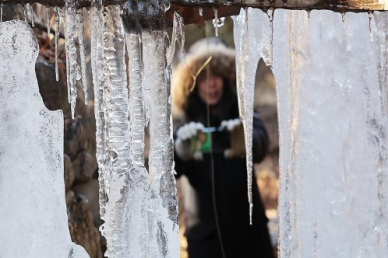
<instances>
[{"instance_id":1,"label":"short jagged icicle ending midway before dark rocks, left of fused columns","mask_svg":"<svg viewBox=\"0 0 388 258\"><path fill-rule=\"evenodd\" d=\"M81 78L80 68L77 63L77 48L75 45L75 35L77 32L77 9L74 6L74 0L66 0L65 10L65 44L66 44L66 63L68 89L70 89L71 116L74 119L77 87L76 82Z\"/></svg>"}]
</instances>

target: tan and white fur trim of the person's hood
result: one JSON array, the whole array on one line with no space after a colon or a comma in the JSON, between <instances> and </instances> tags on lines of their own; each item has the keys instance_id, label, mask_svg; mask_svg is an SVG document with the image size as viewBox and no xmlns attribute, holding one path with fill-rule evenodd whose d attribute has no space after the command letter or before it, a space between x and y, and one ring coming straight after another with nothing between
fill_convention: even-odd
<instances>
[{"instance_id":1,"label":"tan and white fur trim of the person's hood","mask_svg":"<svg viewBox=\"0 0 388 258\"><path fill-rule=\"evenodd\" d=\"M185 58L173 71L172 77L172 113L174 117L184 117L190 90L197 81L206 77L207 64L211 74L229 81L232 90L236 91L235 50L227 46L220 38L206 38L193 44ZM201 70L202 68L202 70ZM197 76L196 76L197 75Z\"/></svg>"}]
</instances>

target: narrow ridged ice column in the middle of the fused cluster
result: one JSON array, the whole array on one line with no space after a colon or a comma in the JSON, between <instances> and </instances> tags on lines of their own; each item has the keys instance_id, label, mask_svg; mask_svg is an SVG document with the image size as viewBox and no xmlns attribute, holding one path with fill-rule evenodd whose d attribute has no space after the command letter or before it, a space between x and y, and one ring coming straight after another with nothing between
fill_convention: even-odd
<instances>
[{"instance_id":1,"label":"narrow ridged ice column in the middle of the fused cluster","mask_svg":"<svg viewBox=\"0 0 388 258\"><path fill-rule=\"evenodd\" d=\"M134 3L134 2L132 2ZM136 20L138 17L137 5L127 4L128 19L132 24L127 28L126 47L128 52L128 75L129 75L129 111L131 119L130 131L130 151L133 163L133 170L130 171L132 198L128 199L128 209L132 216L128 218L127 232L128 246L126 247L126 257L146 258L148 251L148 181L149 176L144 165L144 138L146 115L142 84L142 57L141 57L141 32ZM133 10L131 7L135 8Z\"/></svg>"}]
</instances>

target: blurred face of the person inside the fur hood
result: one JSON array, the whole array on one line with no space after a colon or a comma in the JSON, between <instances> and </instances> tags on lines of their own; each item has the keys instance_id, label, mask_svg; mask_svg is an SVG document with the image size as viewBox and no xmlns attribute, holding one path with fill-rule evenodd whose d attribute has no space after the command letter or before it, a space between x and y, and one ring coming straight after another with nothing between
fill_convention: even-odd
<instances>
[{"instance_id":1,"label":"blurred face of the person inside the fur hood","mask_svg":"<svg viewBox=\"0 0 388 258\"><path fill-rule=\"evenodd\" d=\"M199 98L209 106L216 105L222 98L224 82L221 77L211 75L198 83Z\"/></svg>"}]
</instances>

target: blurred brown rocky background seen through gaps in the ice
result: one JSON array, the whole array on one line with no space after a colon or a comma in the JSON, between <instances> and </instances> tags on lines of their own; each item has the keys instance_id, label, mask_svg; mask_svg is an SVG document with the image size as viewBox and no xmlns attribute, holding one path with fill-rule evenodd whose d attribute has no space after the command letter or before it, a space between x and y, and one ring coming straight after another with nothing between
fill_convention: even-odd
<instances>
[{"instance_id":1,"label":"blurred brown rocky background seen through gaps in the ice","mask_svg":"<svg viewBox=\"0 0 388 258\"><path fill-rule=\"evenodd\" d=\"M34 15L32 15L32 10ZM20 5L8 5L3 7L3 21L11 19L27 19L39 41L40 53L36 62L36 74L40 93L46 107L50 110L63 110L64 113L64 162L65 162L65 188L66 204L69 218L69 228L72 240L82 245L91 258L103 257L106 249L104 238L100 235L98 227L102 224L99 217L98 204L98 167L96 162L95 144L95 120L93 110L93 89L88 89L89 103L84 105L84 93L82 83L79 82L77 110L75 119L71 119L70 105L67 100L66 88L66 56L64 51L63 24L60 25L60 39L58 45L59 55L59 82L55 79L55 15L52 8L49 15L46 15L46 8L35 4L32 9L27 9L27 17L24 15L24 8ZM89 82L92 81L90 67L90 32L85 16L85 39L88 62ZM218 28L218 36L223 38L229 45L233 42L233 20L230 17L221 18L223 26ZM50 33L47 33L47 23L50 26ZM220 23L220 22L219 22ZM222 22L221 22L222 23ZM170 31L171 34L171 31ZM182 58L179 56L181 48L186 50L197 40L204 37L215 36L213 21L204 24L191 24L185 26L185 45L177 44L176 60L178 63ZM238 57L237 57L238 58ZM90 85L91 86L91 85ZM270 219L268 227L270 229L271 240L276 250L277 246L277 204L278 204L278 178L279 178L279 135L277 122L277 98L275 89L275 79L272 71L260 60L256 72L255 84L255 110L260 114L267 128L270 137L270 149L266 158L255 164L254 169L257 184L260 189L267 217ZM146 144L148 139L146 139ZM146 147L146 156L148 148ZM182 185L185 184L184 177L177 181L180 207L183 207ZM186 182L187 183L187 182ZM50 194L50 193L47 193ZM187 243L183 236L184 213L180 209L181 227L181 257L186 258ZM276 254L276 252L275 252Z\"/></svg>"}]
</instances>

